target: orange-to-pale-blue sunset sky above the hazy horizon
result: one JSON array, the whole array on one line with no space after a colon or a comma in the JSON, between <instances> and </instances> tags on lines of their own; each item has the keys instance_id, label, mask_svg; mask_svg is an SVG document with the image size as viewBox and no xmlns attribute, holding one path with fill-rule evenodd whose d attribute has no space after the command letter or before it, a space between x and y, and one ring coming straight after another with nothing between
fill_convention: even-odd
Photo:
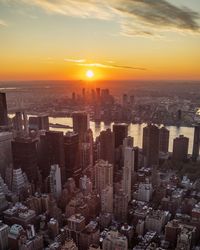
<instances>
[{"instance_id":1,"label":"orange-to-pale-blue sunset sky above the hazy horizon","mask_svg":"<svg viewBox=\"0 0 200 250\"><path fill-rule=\"evenodd\" d=\"M0 80L200 80L199 0L0 0Z\"/></svg>"}]
</instances>

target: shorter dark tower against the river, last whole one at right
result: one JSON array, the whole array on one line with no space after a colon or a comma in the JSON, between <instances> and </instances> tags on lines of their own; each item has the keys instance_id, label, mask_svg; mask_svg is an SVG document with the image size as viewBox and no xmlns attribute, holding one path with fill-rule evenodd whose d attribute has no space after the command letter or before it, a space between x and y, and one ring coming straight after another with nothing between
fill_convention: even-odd
<instances>
[{"instance_id":1,"label":"shorter dark tower against the river, last whole one at right","mask_svg":"<svg viewBox=\"0 0 200 250\"><path fill-rule=\"evenodd\" d=\"M188 155L189 138L180 135L174 139L172 159L174 161L185 161Z\"/></svg>"}]
</instances>

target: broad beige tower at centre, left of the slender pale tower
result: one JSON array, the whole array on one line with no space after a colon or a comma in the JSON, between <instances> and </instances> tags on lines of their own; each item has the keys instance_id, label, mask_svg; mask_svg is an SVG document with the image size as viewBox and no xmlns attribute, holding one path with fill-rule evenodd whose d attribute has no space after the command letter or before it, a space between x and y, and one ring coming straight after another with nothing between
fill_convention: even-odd
<instances>
[{"instance_id":1,"label":"broad beige tower at centre, left of the slender pale tower","mask_svg":"<svg viewBox=\"0 0 200 250\"><path fill-rule=\"evenodd\" d=\"M109 164L107 161L99 160L94 166L95 172L95 188L98 193L107 186L113 187L113 165Z\"/></svg>"}]
</instances>

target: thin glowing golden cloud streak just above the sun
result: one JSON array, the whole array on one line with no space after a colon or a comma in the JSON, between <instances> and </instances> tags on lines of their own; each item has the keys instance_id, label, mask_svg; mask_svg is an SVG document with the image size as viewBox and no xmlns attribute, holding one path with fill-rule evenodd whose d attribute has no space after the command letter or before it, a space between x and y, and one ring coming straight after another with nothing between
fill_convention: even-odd
<instances>
[{"instance_id":1,"label":"thin glowing golden cloud streak just above the sun","mask_svg":"<svg viewBox=\"0 0 200 250\"><path fill-rule=\"evenodd\" d=\"M64 60L64 61L66 61L66 60ZM82 60L83 62L80 62L80 61L81 60L67 60L66 62L76 63L78 66L83 66L83 67L97 67L97 68L109 68L109 69L120 68L120 69L132 69L132 70L146 70L145 68L142 68L142 67L132 67L132 66L126 66L126 65L117 65L117 64L109 64L109 63L98 63L98 62L87 63L85 60Z\"/></svg>"}]
</instances>

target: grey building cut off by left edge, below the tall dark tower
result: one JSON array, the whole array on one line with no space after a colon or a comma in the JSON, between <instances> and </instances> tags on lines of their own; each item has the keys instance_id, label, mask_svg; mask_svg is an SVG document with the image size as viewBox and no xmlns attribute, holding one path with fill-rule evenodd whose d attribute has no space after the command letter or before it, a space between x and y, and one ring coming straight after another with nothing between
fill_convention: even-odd
<instances>
[{"instance_id":1,"label":"grey building cut off by left edge, below the tall dark tower","mask_svg":"<svg viewBox=\"0 0 200 250\"><path fill-rule=\"evenodd\" d=\"M6 169L12 164L11 132L0 132L0 174L5 178Z\"/></svg>"}]
</instances>

